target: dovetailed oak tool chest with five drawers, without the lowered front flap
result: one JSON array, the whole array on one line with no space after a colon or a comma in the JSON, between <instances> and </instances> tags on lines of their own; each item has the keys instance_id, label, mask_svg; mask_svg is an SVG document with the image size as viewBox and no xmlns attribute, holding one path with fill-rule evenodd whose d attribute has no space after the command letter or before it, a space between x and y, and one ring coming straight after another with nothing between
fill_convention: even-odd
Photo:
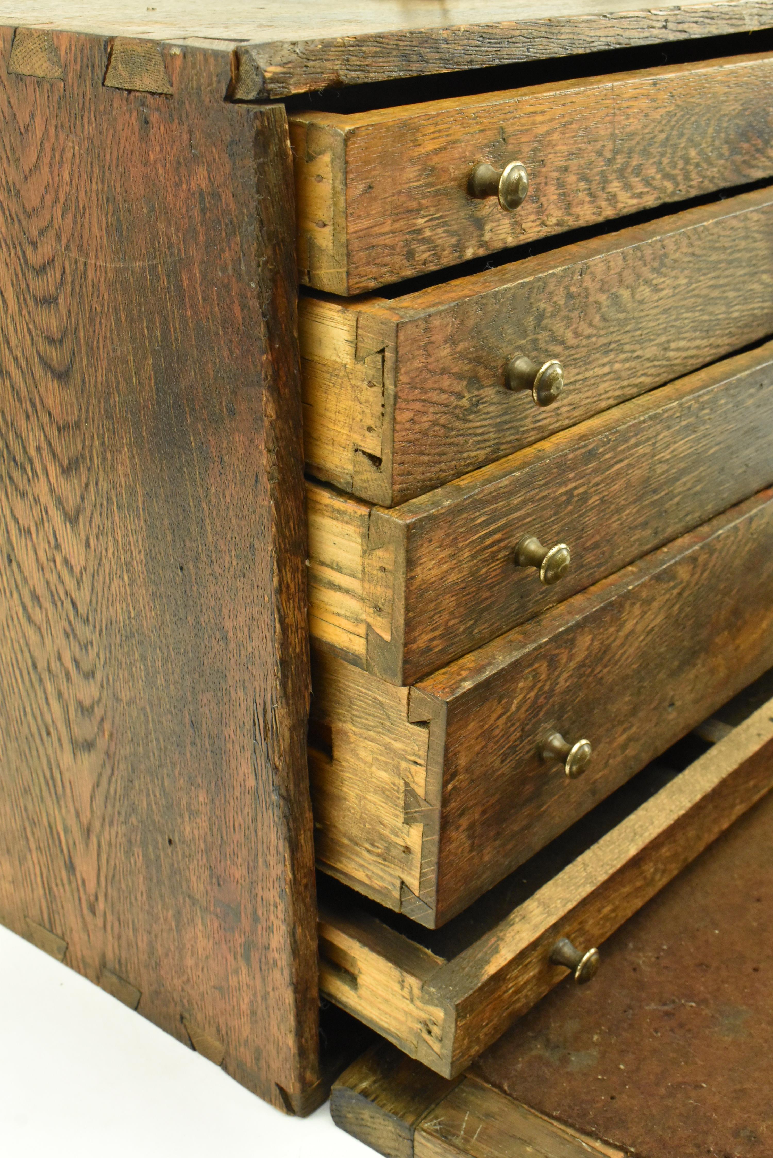
<instances>
[{"instance_id":1,"label":"dovetailed oak tool chest with five drawers, without the lowered front flap","mask_svg":"<svg viewBox=\"0 0 773 1158\"><path fill-rule=\"evenodd\" d=\"M455 1082L773 786L773 0L0 35L0 918Z\"/></svg>"}]
</instances>

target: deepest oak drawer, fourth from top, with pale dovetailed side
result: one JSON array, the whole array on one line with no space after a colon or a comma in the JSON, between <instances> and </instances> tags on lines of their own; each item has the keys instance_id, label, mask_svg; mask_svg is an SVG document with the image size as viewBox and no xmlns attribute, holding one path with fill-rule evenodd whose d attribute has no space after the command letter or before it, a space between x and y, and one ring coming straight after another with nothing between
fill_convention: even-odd
<instances>
[{"instance_id":1,"label":"deepest oak drawer, fourth from top, with pale dovetailed side","mask_svg":"<svg viewBox=\"0 0 773 1158\"><path fill-rule=\"evenodd\" d=\"M410 688L318 650L318 866L442 925L773 665L772 552L764 491Z\"/></svg>"}]
</instances>

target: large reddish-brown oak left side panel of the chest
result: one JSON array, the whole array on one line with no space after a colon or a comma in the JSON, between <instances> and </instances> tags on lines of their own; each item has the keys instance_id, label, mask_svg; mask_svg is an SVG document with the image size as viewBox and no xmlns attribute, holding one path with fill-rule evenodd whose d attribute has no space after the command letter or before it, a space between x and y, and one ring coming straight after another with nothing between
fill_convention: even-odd
<instances>
[{"instance_id":1,"label":"large reddish-brown oak left side panel of the chest","mask_svg":"<svg viewBox=\"0 0 773 1158\"><path fill-rule=\"evenodd\" d=\"M224 103L227 59L197 50L156 96L103 86L104 41L52 44L64 81L8 74L1 34L0 914L300 1107L318 1002L284 112Z\"/></svg>"}]
</instances>

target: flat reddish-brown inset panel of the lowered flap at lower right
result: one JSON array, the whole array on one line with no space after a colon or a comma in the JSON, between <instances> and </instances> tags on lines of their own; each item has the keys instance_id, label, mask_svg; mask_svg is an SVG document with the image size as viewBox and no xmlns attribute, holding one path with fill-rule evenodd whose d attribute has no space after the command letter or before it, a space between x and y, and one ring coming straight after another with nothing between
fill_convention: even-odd
<instances>
[{"instance_id":1,"label":"flat reddish-brown inset panel of the lowered flap at lower right","mask_svg":"<svg viewBox=\"0 0 773 1158\"><path fill-rule=\"evenodd\" d=\"M610 983L559 987L476 1075L627 1155L766 1153L772 826L768 794L610 938Z\"/></svg>"}]
</instances>

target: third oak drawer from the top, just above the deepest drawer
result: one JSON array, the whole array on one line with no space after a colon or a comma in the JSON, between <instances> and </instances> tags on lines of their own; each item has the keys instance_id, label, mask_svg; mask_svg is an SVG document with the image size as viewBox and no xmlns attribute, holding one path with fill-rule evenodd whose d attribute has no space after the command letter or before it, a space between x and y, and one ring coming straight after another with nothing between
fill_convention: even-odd
<instances>
[{"instance_id":1,"label":"third oak drawer from the top, just above the deepest drawer","mask_svg":"<svg viewBox=\"0 0 773 1158\"><path fill-rule=\"evenodd\" d=\"M392 510L309 482L312 636L414 683L771 484L773 343Z\"/></svg>"}]
</instances>

